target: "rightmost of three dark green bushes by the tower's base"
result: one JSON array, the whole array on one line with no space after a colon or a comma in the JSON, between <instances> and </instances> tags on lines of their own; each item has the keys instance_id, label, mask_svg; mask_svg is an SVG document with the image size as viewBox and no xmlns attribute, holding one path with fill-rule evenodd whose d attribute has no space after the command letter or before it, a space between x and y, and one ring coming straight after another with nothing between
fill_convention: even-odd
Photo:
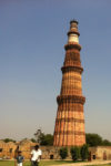
<instances>
[{"instance_id":1,"label":"rightmost of three dark green bushes by the tower's base","mask_svg":"<svg viewBox=\"0 0 111 166\"><path fill-rule=\"evenodd\" d=\"M87 145L87 144L84 144L84 145L81 147L80 154L81 154L82 160L88 159L88 157L89 157L89 149L88 149L88 145Z\"/></svg>"}]
</instances>

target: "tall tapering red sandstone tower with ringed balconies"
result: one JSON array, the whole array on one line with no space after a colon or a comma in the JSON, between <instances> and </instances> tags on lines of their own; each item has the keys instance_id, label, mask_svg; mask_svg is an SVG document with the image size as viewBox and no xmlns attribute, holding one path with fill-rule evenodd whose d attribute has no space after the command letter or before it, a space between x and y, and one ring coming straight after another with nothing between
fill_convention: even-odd
<instances>
[{"instance_id":1,"label":"tall tapering red sandstone tower with ringed balconies","mask_svg":"<svg viewBox=\"0 0 111 166\"><path fill-rule=\"evenodd\" d=\"M81 146L85 144L82 95L82 66L80 60L78 21L70 22L65 59L62 71L60 95L57 97L58 112L54 127L54 146Z\"/></svg>"}]
</instances>

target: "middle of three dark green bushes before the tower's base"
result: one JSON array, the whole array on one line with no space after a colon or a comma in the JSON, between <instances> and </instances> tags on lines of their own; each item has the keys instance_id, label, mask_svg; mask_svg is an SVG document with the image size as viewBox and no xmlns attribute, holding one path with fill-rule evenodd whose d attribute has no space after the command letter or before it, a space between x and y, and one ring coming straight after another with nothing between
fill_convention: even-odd
<instances>
[{"instance_id":1,"label":"middle of three dark green bushes before the tower's base","mask_svg":"<svg viewBox=\"0 0 111 166\"><path fill-rule=\"evenodd\" d=\"M78 160L80 158L80 147L78 146L71 147L70 153L73 160Z\"/></svg>"}]
</instances>

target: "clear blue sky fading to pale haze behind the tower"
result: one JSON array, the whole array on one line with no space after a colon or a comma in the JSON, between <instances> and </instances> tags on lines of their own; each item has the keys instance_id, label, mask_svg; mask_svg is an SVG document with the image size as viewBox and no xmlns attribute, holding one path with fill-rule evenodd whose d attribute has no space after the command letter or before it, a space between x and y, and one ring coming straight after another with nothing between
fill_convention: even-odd
<instances>
[{"instance_id":1,"label":"clear blue sky fading to pale haze behind the tower","mask_svg":"<svg viewBox=\"0 0 111 166\"><path fill-rule=\"evenodd\" d=\"M111 141L111 1L0 0L0 138L53 134L70 20L79 21L85 132Z\"/></svg>"}]
</instances>

